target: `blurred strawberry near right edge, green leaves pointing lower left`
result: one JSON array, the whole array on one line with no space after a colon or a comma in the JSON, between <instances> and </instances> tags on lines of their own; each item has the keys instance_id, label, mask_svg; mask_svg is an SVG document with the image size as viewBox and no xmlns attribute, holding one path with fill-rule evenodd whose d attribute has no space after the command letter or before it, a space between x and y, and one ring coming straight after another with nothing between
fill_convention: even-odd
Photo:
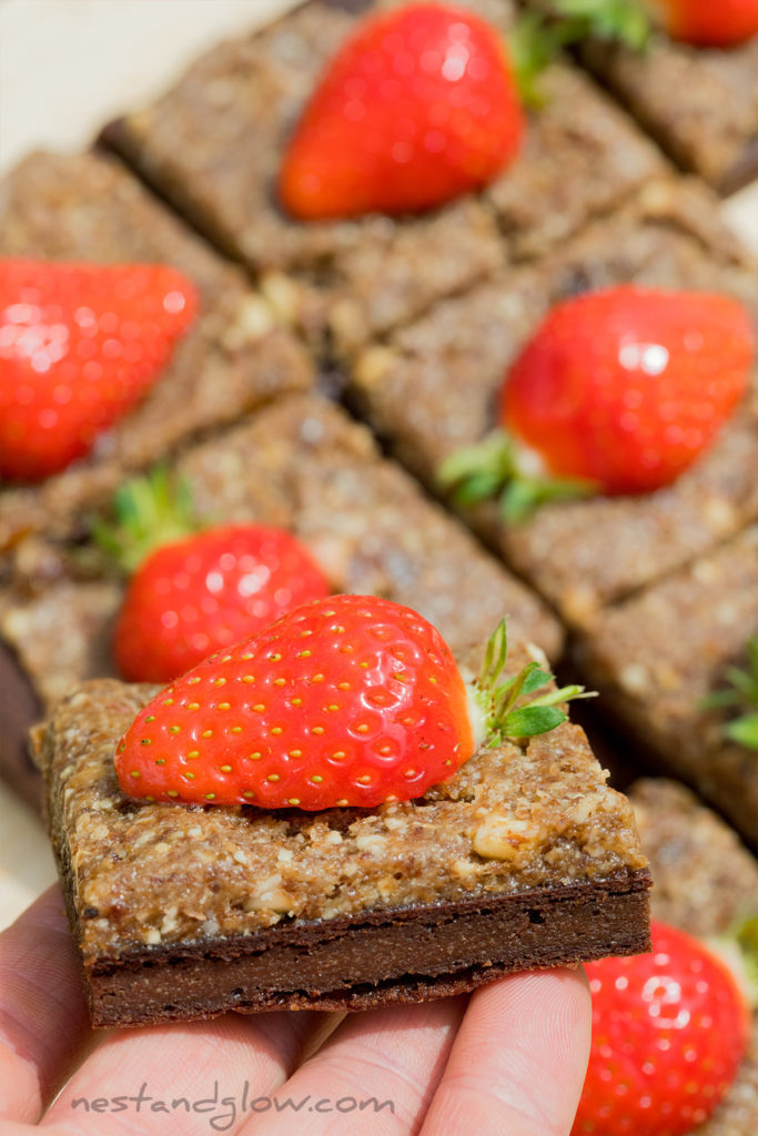
<instances>
[{"instance_id":1,"label":"blurred strawberry near right edge, green leaves pointing lower left","mask_svg":"<svg viewBox=\"0 0 758 1136\"><path fill-rule=\"evenodd\" d=\"M557 304L515 360L500 423L440 471L469 502L500 493L509 520L544 500L668 485L742 399L750 318L725 295L622 285Z\"/></svg>"}]
</instances>

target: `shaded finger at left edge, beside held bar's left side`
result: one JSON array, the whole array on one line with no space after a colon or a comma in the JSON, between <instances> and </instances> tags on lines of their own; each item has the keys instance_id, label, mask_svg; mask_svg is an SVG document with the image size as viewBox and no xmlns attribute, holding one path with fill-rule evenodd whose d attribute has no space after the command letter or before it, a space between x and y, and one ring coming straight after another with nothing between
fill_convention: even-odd
<instances>
[{"instance_id":1,"label":"shaded finger at left edge, beside held bar's left side","mask_svg":"<svg viewBox=\"0 0 758 1136\"><path fill-rule=\"evenodd\" d=\"M36 1121L89 1034L56 884L0 934L0 1116Z\"/></svg>"}]
</instances>

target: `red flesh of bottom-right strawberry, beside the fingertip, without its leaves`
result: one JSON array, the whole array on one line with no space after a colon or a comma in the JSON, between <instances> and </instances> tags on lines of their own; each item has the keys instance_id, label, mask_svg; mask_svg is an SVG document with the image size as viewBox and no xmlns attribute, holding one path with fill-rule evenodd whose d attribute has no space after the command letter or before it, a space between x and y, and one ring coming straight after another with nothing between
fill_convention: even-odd
<instances>
[{"instance_id":1,"label":"red flesh of bottom-right strawberry, beside the fingertip, without its leaves","mask_svg":"<svg viewBox=\"0 0 758 1136\"><path fill-rule=\"evenodd\" d=\"M749 1014L697 939L653 922L652 954L586 966L592 1049L573 1136L680 1136L734 1080Z\"/></svg>"}]
</instances>

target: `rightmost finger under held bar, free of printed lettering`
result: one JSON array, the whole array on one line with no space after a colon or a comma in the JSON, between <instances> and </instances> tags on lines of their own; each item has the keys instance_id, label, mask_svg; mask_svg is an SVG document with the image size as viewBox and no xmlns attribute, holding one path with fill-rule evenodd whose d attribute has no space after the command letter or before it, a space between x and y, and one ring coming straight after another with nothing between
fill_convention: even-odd
<instances>
[{"instance_id":1,"label":"rightmost finger under held bar, free of printed lettering","mask_svg":"<svg viewBox=\"0 0 758 1136\"><path fill-rule=\"evenodd\" d=\"M583 970L514 975L477 991L422 1136L567 1136L590 1029Z\"/></svg>"}]
</instances>

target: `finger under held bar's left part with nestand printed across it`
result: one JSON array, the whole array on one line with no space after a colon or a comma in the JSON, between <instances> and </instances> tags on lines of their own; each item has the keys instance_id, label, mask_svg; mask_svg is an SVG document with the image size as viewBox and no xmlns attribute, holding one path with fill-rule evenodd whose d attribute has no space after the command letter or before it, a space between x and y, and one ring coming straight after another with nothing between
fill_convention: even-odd
<instances>
[{"instance_id":1,"label":"finger under held bar's left part with nestand printed across it","mask_svg":"<svg viewBox=\"0 0 758 1136\"><path fill-rule=\"evenodd\" d=\"M67 1133L234 1133L245 1102L295 1068L319 1016L310 1011L114 1030L55 1101L42 1126Z\"/></svg>"}]
</instances>

